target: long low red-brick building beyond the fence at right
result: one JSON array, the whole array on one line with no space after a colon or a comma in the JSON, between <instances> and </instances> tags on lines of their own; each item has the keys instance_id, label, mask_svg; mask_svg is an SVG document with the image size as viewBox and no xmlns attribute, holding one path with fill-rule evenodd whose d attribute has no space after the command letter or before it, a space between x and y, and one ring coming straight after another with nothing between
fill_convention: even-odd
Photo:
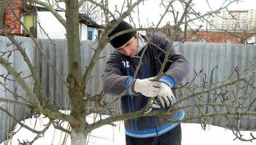
<instances>
[{"instance_id":1,"label":"long low red-brick building beyond the fence at right","mask_svg":"<svg viewBox=\"0 0 256 145\"><path fill-rule=\"evenodd\" d=\"M188 42L247 44L246 40L255 34L256 32L189 29L186 36Z\"/></svg>"}]
</instances>

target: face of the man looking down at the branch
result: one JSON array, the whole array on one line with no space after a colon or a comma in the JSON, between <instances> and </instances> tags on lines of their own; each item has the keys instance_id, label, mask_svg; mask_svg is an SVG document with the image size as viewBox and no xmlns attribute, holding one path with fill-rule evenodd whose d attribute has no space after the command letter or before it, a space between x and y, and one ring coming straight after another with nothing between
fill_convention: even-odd
<instances>
[{"instance_id":1,"label":"face of the man looking down at the branch","mask_svg":"<svg viewBox=\"0 0 256 145\"><path fill-rule=\"evenodd\" d=\"M116 48L118 52L120 52L123 55L126 56L135 56L137 54L137 49L138 49L138 33L134 35L128 42L126 42L124 45Z\"/></svg>"}]
</instances>

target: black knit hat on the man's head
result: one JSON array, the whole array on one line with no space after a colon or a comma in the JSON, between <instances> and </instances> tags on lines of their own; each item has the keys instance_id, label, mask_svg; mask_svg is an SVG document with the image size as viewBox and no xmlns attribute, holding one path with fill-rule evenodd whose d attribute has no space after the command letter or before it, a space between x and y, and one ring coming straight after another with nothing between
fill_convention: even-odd
<instances>
[{"instance_id":1,"label":"black knit hat on the man's head","mask_svg":"<svg viewBox=\"0 0 256 145\"><path fill-rule=\"evenodd\" d=\"M114 20L112 20L112 21L114 21ZM108 35L108 38L110 38L112 35L114 35L118 32L121 32L121 31L124 31L127 29L132 29L132 26L123 20L121 23L118 24L118 26L115 29L113 29L113 31ZM118 47L124 45L126 42L128 42L133 36L134 36L134 32L128 32L128 33L119 35L116 38L114 38L113 40L111 40L110 44L114 48L118 48Z\"/></svg>"}]
</instances>

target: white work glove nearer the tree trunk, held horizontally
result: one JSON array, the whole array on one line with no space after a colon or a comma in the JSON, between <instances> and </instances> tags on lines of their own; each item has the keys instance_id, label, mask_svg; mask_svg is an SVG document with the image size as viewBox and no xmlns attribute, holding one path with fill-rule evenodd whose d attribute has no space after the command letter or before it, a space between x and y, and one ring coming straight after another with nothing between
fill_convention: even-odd
<instances>
[{"instance_id":1,"label":"white work glove nearer the tree trunk, held horizontally","mask_svg":"<svg viewBox=\"0 0 256 145\"><path fill-rule=\"evenodd\" d=\"M155 97L160 91L160 82L154 81L155 77L136 79L134 91L147 97Z\"/></svg>"}]
</instances>

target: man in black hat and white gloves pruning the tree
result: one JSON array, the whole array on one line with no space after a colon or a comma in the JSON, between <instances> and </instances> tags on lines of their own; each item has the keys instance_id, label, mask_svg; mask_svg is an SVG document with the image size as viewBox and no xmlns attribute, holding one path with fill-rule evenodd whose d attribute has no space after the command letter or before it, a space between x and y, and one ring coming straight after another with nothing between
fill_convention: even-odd
<instances>
[{"instance_id":1,"label":"man in black hat and white gloves pruning the tree","mask_svg":"<svg viewBox=\"0 0 256 145\"><path fill-rule=\"evenodd\" d=\"M108 37L132 26L122 21ZM116 49L109 57L105 72L102 75L103 90L113 96L119 96L131 84L132 76L139 64L143 48L146 46L150 34L146 32L128 32L114 38L110 43ZM179 84L189 73L186 58L174 49L169 55L169 61L164 69L165 75L159 81L154 78L160 71L165 53L170 41L162 35L154 34L145 51L142 65L137 73L136 80L121 97L122 113L131 113L141 110L148 102L149 97L157 97L162 109L166 109L175 102L175 92L172 87ZM160 47L162 50L158 49ZM167 116L167 115L166 115ZM183 119L184 111L179 110L172 116L172 120ZM125 120L126 145L180 145L180 124L165 122L158 116L143 116Z\"/></svg>"}]
</instances>

